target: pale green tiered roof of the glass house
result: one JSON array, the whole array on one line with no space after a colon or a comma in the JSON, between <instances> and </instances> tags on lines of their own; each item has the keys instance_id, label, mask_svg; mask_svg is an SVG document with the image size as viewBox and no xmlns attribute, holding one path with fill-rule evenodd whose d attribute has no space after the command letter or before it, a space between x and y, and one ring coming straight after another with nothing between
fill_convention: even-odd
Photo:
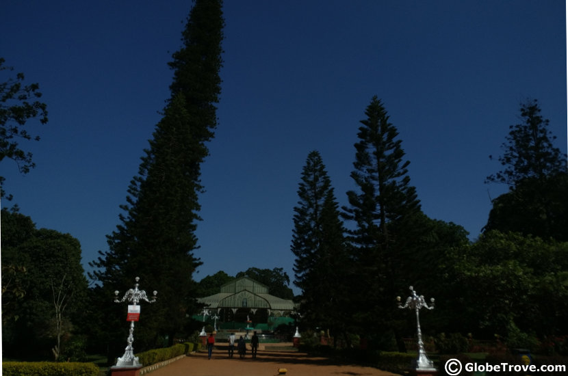
<instances>
[{"instance_id":1,"label":"pale green tiered roof of the glass house","mask_svg":"<svg viewBox=\"0 0 568 376\"><path fill-rule=\"evenodd\" d=\"M268 287L248 277L221 286L221 292L197 299L207 308L266 308L274 311L294 310L294 302L270 295Z\"/></svg>"}]
</instances>

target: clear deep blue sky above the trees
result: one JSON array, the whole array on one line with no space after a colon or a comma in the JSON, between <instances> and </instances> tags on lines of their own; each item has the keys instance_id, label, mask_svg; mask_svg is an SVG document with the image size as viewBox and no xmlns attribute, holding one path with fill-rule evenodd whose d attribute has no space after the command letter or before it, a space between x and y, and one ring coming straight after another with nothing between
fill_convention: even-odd
<instances>
[{"instance_id":1,"label":"clear deep blue sky above the trees","mask_svg":"<svg viewBox=\"0 0 568 376\"><path fill-rule=\"evenodd\" d=\"M68 232L83 262L107 250L129 181L168 98L167 63L190 1L0 2L0 56L40 83L49 123L29 122L37 167L5 160L5 189L38 228ZM340 204L354 189L359 120L375 94L398 128L429 217L476 239L486 185L519 103L537 98L567 150L565 2L227 0L219 125L203 164L203 266L283 267L293 208L319 150ZM5 75L0 77L5 79ZM150 261L150 260L149 260Z\"/></svg>"}]
</instances>

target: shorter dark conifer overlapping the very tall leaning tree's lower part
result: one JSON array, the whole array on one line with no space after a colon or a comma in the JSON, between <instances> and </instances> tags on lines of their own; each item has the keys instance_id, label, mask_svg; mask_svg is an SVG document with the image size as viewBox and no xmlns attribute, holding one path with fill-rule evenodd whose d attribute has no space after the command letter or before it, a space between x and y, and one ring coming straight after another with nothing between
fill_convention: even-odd
<instances>
[{"instance_id":1,"label":"shorter dark conifer overlapping the very tall leaning tree's lower part","mask_svg":"<svg viewBox=\"0 0 568 376\"><path fill-rule=\"evenodd\" d=\"M187 122L179 94L166 108L139 176L131 182L127 217L121 216L123 224L109 236L109 252L95 264L103 267L95 276L111 291L131 288L136 276L141 288L159 291L159 303L144 307L144 325L137 330L139 348L181 331L196 297L192 273L201 264L194 256L201 189L196 170L203 150L187 131ZM146 338L141 338L141 330Z\"/></svg>"}]
</instances>

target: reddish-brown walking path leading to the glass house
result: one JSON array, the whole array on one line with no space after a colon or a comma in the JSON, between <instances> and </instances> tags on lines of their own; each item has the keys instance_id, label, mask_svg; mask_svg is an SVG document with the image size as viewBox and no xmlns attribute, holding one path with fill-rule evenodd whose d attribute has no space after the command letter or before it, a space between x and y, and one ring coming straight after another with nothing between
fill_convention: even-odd
<instances>
[{"instance_id":1,"label":"reddish-brown walking path leading to the glass house","mask_svg":"<svg viewBox=\"0 0 568 376\"><path fill-rule=\"evenodd\" d=\"M289 344L292 345L292 344ZM235 349L236 350L236 349ZM309 356L296 351L283 351L277 347L259 349L256 359L251 359L250 349L246 358L240 359L237 351L232 359L227 355L227 345L219 345L213 358L207 359L207 350L198 351L167 366L158 368L149 376L274 376L280 368L286 368L286 376L392 376L396 373L380 371L372 367L339 364L328 358Z\"/></svg>"}]
</instances>

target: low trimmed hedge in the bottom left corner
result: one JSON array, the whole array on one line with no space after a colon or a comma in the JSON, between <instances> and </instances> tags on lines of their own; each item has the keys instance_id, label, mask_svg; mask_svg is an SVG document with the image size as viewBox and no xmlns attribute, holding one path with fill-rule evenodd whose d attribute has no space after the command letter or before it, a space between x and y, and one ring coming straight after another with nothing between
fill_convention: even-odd
<instances>
[{"instance_id":1,"label":"low trimmed hedge in the bottom left corner","mask_svg":"<svg viewBox=\"0 0 568 376\"><path fill-rule=\"evenodd\" d=\"M4 376L98 376L94 363L2 362Z\"/></svg>"}]
</instances>

